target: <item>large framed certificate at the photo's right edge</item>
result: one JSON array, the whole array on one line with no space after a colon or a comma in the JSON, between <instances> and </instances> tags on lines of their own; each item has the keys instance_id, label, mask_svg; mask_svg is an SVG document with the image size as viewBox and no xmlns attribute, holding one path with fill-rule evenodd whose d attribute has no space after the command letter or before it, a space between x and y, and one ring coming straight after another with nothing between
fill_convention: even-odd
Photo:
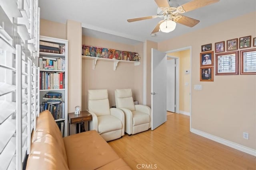
<instances>
[{"instance_id":1,"label":"large framed certificate at the photo's right edge","mask_svg":"<svg viewBox=\"0 0 256 170\"><path fill-rule=\"evenodd\" d=\"M256 49L240 51L240 74L256 74Z\"/></svg>"}]
</instances>

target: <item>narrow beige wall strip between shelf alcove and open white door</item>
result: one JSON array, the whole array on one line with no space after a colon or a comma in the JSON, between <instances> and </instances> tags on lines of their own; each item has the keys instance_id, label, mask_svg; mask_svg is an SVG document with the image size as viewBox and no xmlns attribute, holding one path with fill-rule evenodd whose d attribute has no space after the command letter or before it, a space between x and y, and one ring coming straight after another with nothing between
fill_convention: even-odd
<instances>
[{"instance_id":1,"label":"narrow beige wall strip between shelf alcove and open white door","mask_svg":"<svg viewBox=\"0 0 256 170\"><path fill-rule=\"evenodd\" d=\"M151 49L157 49L157 43L146 41L146 105L151 107Z\"/></svg>"}]
</instances>

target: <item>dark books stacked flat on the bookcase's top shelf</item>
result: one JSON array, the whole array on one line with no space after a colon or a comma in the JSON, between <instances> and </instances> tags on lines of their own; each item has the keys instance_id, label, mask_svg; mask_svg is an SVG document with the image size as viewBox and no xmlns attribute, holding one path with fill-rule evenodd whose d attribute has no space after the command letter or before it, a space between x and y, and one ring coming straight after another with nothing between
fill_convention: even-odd
<instances>
[{"instance_id":1,"label":"dark books stacked flat on the bookcase's top shelf","mask_svg":"<svg viewBox=\"0 0 256 170\"><path fill-rule=\"evenodd\" d=\"M48 41L39 42L40 52L65 54L65 45L59 45Z\"/></svg>"}]
</instances>

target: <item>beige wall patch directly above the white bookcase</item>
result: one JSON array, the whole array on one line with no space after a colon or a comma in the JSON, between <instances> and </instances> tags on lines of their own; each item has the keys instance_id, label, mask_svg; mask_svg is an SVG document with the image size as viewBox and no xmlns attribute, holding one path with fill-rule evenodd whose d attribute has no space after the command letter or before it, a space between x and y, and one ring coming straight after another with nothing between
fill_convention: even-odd
<instances>
[{"instance_id":1,"label":"beige wall patch directly above the white bookcase","mask_svg":"<svg viewBox=\"0 0 256 170\"><path fill-rule=\"evenodd\" d=\"M40 35L66 39L66 24L40 19Z\"/></svg>"}]
</instances>

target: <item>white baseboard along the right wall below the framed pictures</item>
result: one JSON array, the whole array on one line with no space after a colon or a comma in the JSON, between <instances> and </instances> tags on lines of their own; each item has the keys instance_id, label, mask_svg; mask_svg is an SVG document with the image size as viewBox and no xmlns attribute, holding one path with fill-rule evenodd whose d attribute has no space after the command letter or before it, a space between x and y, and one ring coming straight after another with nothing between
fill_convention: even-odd
<instances>
[{"instance_id":1,"label":"white baseboard along the right wall below the framed pictures","mask_svg":"<svg viewBox=\"0 0 256 170\"><path fill-rule=\"evenodd\" d=\"M248 148L248 147L245 147L243 145L240 145L240 144L237 144L237 143L234 143L234 142L231 142L231 141L227 141L226 139L222 139L220 137L216 137L214 135L211 135L209 133L205 133L205 132L202 132L202 131L199 131L197 129L193 129L191 128L191 132L192 133L195 133L197 135L200 135L202 137L205 137L207 139L211 139L212 141L215 141L215 142L218 142L218 143L221 143L223 145L226 145L228 147L232 147L234 149L237 149L237 150L240 150L242 152L246 152L248 154L251 154L253 156L256 156L256 150L254 149L251 149L251 148Z\"/></svg>"}]
</instances>

